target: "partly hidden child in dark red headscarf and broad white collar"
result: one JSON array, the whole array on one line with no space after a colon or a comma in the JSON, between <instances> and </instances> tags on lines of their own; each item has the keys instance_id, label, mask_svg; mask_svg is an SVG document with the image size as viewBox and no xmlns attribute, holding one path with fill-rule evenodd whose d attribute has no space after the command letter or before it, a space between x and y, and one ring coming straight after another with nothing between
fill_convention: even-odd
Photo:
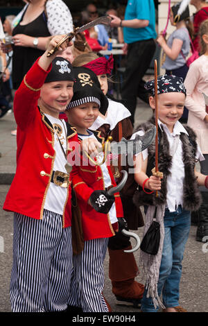
<instances>
[{"instance_id":1,"label":"partly hidden child in dark red headscarf and broad white collar","mask_svg":"<svg viewBox=\"0 0 208 326\"><path fill-rule=\"evenodd\" d=\"M107 60L96 53L78 55L72 62L73 67L87 67L94 71L101 84L103 94L107 96L108 76L113 69L113 58ZM132 136L132 123L130 112L119 101L107 97L108 107L105 114L98 112L98 117L91 126L91 130L101 131L101 136L107 139L112 136L114 141L120 141L121 137L130 139ZM121 166L112 166L112 172L116 175L116 169L121 171ZM122 169L126 169L122 166ZM139 207L132 202L133 188L136 185L133 174L128 175L126 185L121 189L123 213L128 228L137 230L144 225ZM130 237L125 237L120 232L111 237L108 242L110 256L109 276L112 281L112 292L116 296L116 304L127 304L138 307L144 293L144 285L135 280L139 273L135 256L132 252L124 252L131 249Z\"/></svg>"}]
</instances>

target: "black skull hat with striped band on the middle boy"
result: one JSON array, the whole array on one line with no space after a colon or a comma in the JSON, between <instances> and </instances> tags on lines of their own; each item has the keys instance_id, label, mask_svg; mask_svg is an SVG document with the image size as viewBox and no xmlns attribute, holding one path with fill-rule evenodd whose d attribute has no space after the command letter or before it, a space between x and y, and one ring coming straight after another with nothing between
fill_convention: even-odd
<instances>
[{"instance_id":1,"label":"black skull hat with striped band on the middle boy","mask_svg":"<svg viewBox=\"0 0 208 326\"><path fill-rule=\"evenodd\" d=\"M73 84L73 97L67 110L83 103L95 102L100 112L105 115L108 107L107 97L101 90L99 80L94 71L85 67L73 67L75 83Z\"/></svg>"}]
</instances>

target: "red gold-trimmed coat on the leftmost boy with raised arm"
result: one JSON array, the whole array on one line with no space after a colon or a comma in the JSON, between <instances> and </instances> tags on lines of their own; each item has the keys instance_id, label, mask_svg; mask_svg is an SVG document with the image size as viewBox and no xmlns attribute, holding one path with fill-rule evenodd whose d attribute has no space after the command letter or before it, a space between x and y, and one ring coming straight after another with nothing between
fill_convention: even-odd
<instances>
[{"instance_id":1,"label":"red gold-trimmed coat on the leftmost boy with raised arm","mask_svg":"<svg viewBox=\"0 0 208 326\"><path fill-rule=\"evenodd\" d=\"M38 60L37 60L38 61ZM41 219L55 161L54 130L40 112L37 100L40 87L51 70L44 71L37 61L28 71L14 98L17 122L17 169L3 209ZM75 128L67 126L68 148L78 141ZM63 209L63 227L71 225L71 185Z\"/></svg>"}]
</instances>

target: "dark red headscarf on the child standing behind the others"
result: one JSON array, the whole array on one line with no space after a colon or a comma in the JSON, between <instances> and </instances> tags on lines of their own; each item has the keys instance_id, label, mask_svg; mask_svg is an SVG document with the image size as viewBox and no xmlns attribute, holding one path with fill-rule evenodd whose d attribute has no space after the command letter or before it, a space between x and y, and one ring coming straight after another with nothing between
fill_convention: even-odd
<instances>
[{"instance_id":1,"label":"dark red headscarf on the child standing behind the others","mask_svg":"<svg viewBox=\"0 0 208 326\"><path fill-rule=\"evenodd\" d=\"M91 69L97 76L111 74L114 67L114 59L111 54L108 60L105 57L97 58L83 65L83 67Z\"/></svg>"}]
</instances>

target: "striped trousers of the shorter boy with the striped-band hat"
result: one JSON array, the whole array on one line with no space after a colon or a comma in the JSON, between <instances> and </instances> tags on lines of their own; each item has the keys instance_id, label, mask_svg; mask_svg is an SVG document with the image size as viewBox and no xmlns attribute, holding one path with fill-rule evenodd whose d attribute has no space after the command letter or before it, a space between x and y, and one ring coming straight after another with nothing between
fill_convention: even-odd
<instances>
[{"instance_id":1,"label":"striped trousers of the shorter boy with the striped-band hat","mask_svg":"<svg viewBox=\"0 0 208 326\"><path fill-rule=\"evenodd\" d=\"M108 311L103 297L107 243L108 238L85 241L83 252L73 256L69 305L82 307L83 312Z\"/></svg>"}]
</instances>

